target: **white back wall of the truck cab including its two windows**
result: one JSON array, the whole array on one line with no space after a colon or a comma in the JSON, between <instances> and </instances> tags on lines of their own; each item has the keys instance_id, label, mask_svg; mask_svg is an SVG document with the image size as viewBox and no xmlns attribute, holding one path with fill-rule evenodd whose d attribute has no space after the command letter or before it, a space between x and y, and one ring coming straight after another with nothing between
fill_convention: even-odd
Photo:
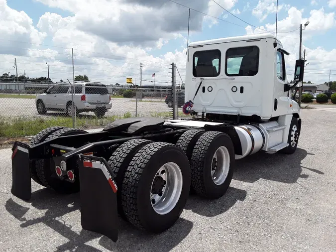
<instances>
[{"instance_id":1,"label":"white back wall of the truck cab including its two windows","mask_svg":"<svg viewBox=\"0 0 336 252\"><path fill-rule=\"evenodd\" d=\"M196 50L193 55L193 77L196 78L192 86L197 88L204 78L194 108L202 111L205 107L208 112L220 114L259 114L263 83L259 55L264 52L253 42L246 44L246 41L206 48Z\"/></svg>"}]
</instances>

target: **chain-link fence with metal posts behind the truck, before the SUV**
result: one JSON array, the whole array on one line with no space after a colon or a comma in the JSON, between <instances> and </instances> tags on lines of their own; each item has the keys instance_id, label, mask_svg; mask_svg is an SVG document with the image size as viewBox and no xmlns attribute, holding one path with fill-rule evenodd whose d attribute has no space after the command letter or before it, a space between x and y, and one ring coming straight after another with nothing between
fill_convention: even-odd
<instances>
[{"instance_id":1,"label":"chain-link fence with metal posts behind the truck, before the SUV","mask_svg":"<svg viewBox=\"0 0 336 252\"><path fill-rule=\"evenodd\" d=\"M74 92L72 92L74 90ZM173 118L172 89L99 83L0 83L0 137L26 137L50 126L99 129L130 117ZM72 105L75 105L74 106ZM177 90L177 118L184 91Z\"/></svg>"}]
</instances>

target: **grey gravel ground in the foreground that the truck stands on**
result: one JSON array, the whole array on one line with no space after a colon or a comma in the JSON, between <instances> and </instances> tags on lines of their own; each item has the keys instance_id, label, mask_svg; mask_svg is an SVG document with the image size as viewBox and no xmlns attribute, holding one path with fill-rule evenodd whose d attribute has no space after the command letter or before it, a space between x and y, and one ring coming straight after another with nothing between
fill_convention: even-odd
<instances>
[{"instance_id":1,"label":"grey gravel ground in the foreground that the truck stands on","mask_svg":"<svg viewBox=\"0 0 336 252\"><path fill-rule=\"evenodd\" d=\"M119 240L84 231L79 195L33 183L31 202L10 194L10 149L0 150L0 251L335 251L336 108L302 110L293 155L258 153L237 162L227 193L190 196L160 235L120 220Z\"/></svg>"}]
</instances>

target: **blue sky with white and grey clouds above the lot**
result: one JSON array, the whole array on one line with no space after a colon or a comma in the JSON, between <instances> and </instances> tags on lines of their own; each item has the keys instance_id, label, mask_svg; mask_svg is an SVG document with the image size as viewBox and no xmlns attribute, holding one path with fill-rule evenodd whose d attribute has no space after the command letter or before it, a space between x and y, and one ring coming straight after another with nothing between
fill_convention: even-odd
<instances>
[{"instance_id":1,"label":"blue sky with white and grey clouds above the lot","mask_svg":"<svg viewBox=\"0 0 336 252\"><path fill-rule=\"evenodd\" d=\"M204 15L191 10L191 20L193 20L191 25L194 26L189 33L189 42L256 32L254 27L248 26L245 22L230 15L212 0L174 1L227 21L216 20L209 16L204 18ZM247 23L266 30L275 30L276 13L274 4L276 0L216 1ZM38 44L50 45L50 47L30 46L30 50L44 50L40 53L42 56L39 57L41 58L46 57L43 56L46 55L45 50L49 50L49 52L52 50L52 54L48 54L48 61L50 61L50 55L54 56L60 53L58 56L62 57L62 53L64 55L65 51L69 53L69 51L60 49L60 47L73 47L102 54L126 55L125 57L130 59L114 63L114 66L123 68L123 73L132 71L131 69L134 68L136 62L140 61L131 60L134 58L147 61L144 64L144 71L148 74L149 72L161 72L162 75L166 75L162 70L162 64L167 66L167 63L171 61L177 62L182 74L184 72L188 8L176 3L168 0L158 0L156 2L152 0L115 0L115 2L96 0L95 3L93 3L93 0L0 0L0 2L6 2L7 16L11 14L23 16L22 13L15 12L23 11L31 18L32 26L30 28L25 27L25 29L28 29L27 33L30 33L30 39L27 36L29 34L26 34L26 36L23 36L23 41L27 39L27 50L29 50L29 43L38 42ZM138 3L138 5L135 6L134 3ZM122 12L125 9L130 9L130 12L134 10L134 12L127 15L127 11ZM173 12L169 13L169 11ZM320 76L311 75L310 77L308 75L309 78L315 79L317 82L325 80L325 76L322 74L325 73L325 70L335 70L336 74L335 11L336 0L279 0L279 31L297 29L300 23L310 21L307 29L303 32L303 48L307 50L307 59L311 63L310 67L321 70ZM132 17L136 18L137 21L132 21ZM8 18L10 19L10 17ZM11 22L14 24L18 22L18 26L24 27L26 19L23 18L20 21L17 21L17 19L15 17ZM3 30L6 30L4 26L7 23L5 21L2 20ZM198 22L200 23L199 26L197 25ZM10 34L10 38L21 41L21 30L17 28L17 32L15 32ZM38 35L35 35L36 33ZM278 33L278 35L285 49L290 51L292 55L290 60L294 61L298 57L299 31ZM162 42L163 45L159 46ZM8 44L8 46L11 45ZM22 45L20 46L22 47ZM84 56L83 53L81 54ZM37 54L34 55L36 57ZM324 55L325 57L323 57ZM21 56L23 57L23 55ZM31 64L37 65L46 61L44 59L33 59L32 51L29 51L26 56L30 57L26 60ZM97 54L87 53L86 56L92 57L92 60L85 63L83 60L83 64L90 65L90 63L97 62L94 59L98 57ZM10 57L10 55L2 55L2 58ZM104 63L104 61L102 62ZM155 62L162 62L160 63L161 67L154 64ZM60 67L65 67L61 66L59 62L56 63L54 65L58 64ZM111 62L105 61L105 63L110 64ZM0 65L0 69L5 67L6 65L3 67ZM91 69L97 69L97 66L86 66L85 71L92 75L100 74ZM107 70L102 68L102 71ZM36 73L36 75L38 74ZM122 73L105 74L109 77Z\"/></svg>"}]
</instances>

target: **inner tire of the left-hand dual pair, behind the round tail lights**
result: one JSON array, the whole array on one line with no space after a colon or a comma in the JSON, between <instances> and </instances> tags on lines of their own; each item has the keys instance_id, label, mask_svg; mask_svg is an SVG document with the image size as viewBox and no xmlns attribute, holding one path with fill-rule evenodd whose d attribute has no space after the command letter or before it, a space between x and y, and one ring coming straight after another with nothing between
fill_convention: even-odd
<instances>
[{"instance_id":1,"label":"inner tire of the left-hand dual pair, behind the round tail lights","mask_svg":"<svg viewBox=\"0 0 336 252\"><path fill-rule=\"evenodd\" d=\"M52 134L50 134L45 141L66 135L76 135L88 133L87 131L77 129L77 128L63 128L59 129ZM78 169L74 169L75 178L79 177ZM41 181L42 185L55 190L58 193L75 193L79 191L79 179L75 179L73 183L60 180L57 177L55 169L50 167L49 159L41 159L36 161L36 173L38 179Z\"/></svg>"}]
</instances>

